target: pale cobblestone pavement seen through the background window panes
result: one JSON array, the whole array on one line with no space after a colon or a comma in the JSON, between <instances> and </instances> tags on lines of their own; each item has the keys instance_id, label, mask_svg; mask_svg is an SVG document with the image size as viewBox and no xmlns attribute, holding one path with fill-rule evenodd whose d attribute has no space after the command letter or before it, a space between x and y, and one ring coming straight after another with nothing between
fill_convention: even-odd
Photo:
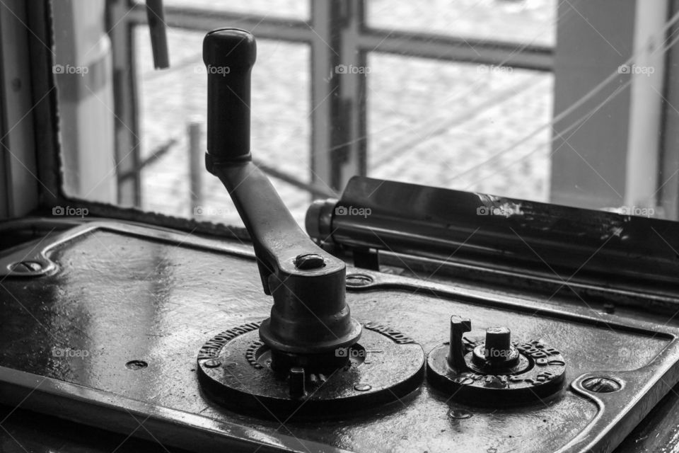
<instances>
[{"instance_id":1,"label":"pale cobblestone pavement seen through the background window panes","mask_svg":"<svg viewBox=\"0 0 679 453\"><path fill-rule=\"evenodd\" d=\"M192 2L192 6L210 8L225 4ZM248 8L257 13L274 11L279 16L308 16L298 0L228 3L230 8L234 4L240 5L236 7L240 11ZM553 43L550 21L555 4L551 0L429 0L427 4L431 9L422 11L428 11L429 16L422 13L415 17L411 2L368 0L368 22L388 29L455 30L477 38ZM204 122L205 117L206 76L200 55L203 35L170 29L172 67L153 71L148 30L137 30L142 154L148 156L170 138L178 140L168 154L144 169L143 207L240 224L226 190L207 172L202 175L202 201L192 205L190 197L186 128L190 120ZM313 109L308 47L272 40L258 40L257 47L253 153L257 159L308 181L308 117ZM547 127L520 146L513 144L549 122L551 74L378 52L368 56L368 67L369 176L547 200L551 130ZM302 222L310 202L308 193L273 182Z\"/></svg>"}]
</instances>

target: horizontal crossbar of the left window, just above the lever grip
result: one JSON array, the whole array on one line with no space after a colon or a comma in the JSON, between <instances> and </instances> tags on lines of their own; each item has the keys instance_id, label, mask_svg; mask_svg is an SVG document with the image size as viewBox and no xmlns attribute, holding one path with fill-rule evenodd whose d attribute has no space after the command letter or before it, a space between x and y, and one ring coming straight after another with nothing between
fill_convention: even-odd
<instances>
[{"instance_id":1,"label":"horizontal crossbar of the left window, just above the lever grip","mask_svg":"<svg viewBox=\"0 0 679 453\"><path fill-rule=\"evenodd\" d=\"M138 25L148 23L144 4L132 6L129 20ZM298 19L268 18L184 6L166 6L165 22L170 27L204 32L224 27L241 28L255 33L257 38L262 39L311 42L315 38L311 27Z\"/></svg>"}]
</instances>

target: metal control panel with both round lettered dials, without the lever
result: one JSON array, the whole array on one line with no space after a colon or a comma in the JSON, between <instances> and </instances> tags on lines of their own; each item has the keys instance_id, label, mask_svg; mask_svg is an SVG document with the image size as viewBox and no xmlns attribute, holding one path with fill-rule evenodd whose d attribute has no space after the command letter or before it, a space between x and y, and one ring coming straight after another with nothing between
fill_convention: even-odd
<instances>
[{"instance_id":1,"label":"metal control panel with both round lettered dials, without the lever","mask_svg":"<svg viewBox=\"0 0 679 453\"><path fill-rule=\"evenodd\" d=\"M347 369L272 386L248 244L92 223L0 264L2 403L194 451L608 452L678 380L670 325L349 267Z\"/></svg>"}]
</instances>

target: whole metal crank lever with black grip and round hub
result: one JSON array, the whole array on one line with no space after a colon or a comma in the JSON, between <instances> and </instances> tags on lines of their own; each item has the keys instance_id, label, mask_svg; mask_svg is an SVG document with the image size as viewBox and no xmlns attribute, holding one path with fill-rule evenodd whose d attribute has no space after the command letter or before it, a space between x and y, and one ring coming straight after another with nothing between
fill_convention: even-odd
<instances>
[{"instance_id":1,"label":"whole metal crank lever with black grip and round hub","mask_svg":"<svg viewBox=\"0 0 679 453\"><path fill-rule=\"evenodd\" d=\"M250 154L250 74L253 35L214 30L203 42L207 66L207 170L228 190L253 241L262 286L272 295L260 338L272 367L332 369L347 364L339 348L354 345L361 324L345 297L346 266L298 226Z\"/></svg>"}]
</instances>

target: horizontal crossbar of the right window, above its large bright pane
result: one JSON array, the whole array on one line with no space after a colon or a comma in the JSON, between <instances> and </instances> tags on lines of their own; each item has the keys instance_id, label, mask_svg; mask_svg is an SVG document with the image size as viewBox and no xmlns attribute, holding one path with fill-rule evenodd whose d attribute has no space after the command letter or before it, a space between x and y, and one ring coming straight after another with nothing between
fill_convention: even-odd
<instances>
[{"instance_id":1,"label":"horizontal crossbar of the right window, above its large bright pane","mask_svg":"<svg viewBox=\"0 0 679 453\"><path fill-rule=\"evenodd\" d=\"M376 28L366 28L359 34L358 39L359 48L366 52L384 52L535 71L554 70L554 51L552 47L547 46Z\"/></svg>"}]
</instances>

